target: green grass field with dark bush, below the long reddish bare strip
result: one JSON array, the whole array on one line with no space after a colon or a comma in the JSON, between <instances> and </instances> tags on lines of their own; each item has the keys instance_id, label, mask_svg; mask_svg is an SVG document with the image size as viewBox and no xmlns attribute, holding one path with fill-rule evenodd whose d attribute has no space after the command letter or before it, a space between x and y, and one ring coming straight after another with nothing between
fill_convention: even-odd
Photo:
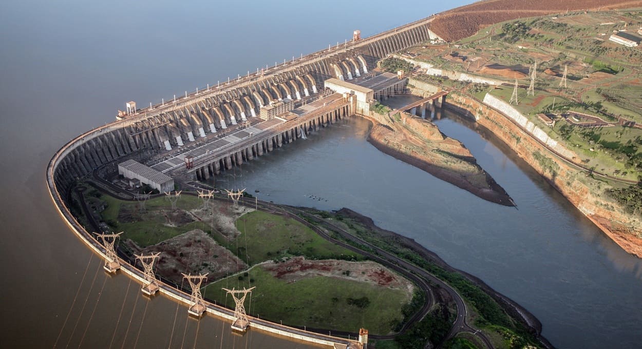
<instances>
[{"instance_id":1,"label":"green grass field with dark bush, below the long reddish bare strip","mask_svg":"<svg viewBox=\"0 0 642 349\"><path fill-rule=\"evenodd\" d=\"M251 280L251 281L250 281ZM256 266L239 280L238 275L208 285L204 296L227 307L234 300L221 287L257 288L245 302L248 314L288 325L334 330L358 331L368 328L370 334L388 334L392 321L402 318L401 308L410 302L404 291L388 289L365 282L330 277L311 277L288 284ZM349 305L347 298L367 297L366 307Z\"/></svg>"}]
</instances>

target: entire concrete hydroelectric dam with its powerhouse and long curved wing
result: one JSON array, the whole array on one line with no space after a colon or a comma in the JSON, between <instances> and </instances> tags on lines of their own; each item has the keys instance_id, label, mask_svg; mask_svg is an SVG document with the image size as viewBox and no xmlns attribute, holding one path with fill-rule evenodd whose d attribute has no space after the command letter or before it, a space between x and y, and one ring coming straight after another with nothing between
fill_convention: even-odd
<instances>
[{"instance_id":1,"label":"entire concrete hydroelectric dam with its powerhouse and long curved wing","mask_svg":"<svg viewBox=\"0 0 642 349\"><path fill-rule=\"evenodd\" d=\"M403 80L397 76L372 75L370 71L377 60L421 42L440 40L429 30L432 18L368 38L361 38L355 31L352 40L343 44L208 85L207 89L186 92L157 105L137 108L134 101L128 102L116 121L75 137L55 153L47 169L51 198L67 225L87 246L114 269L150 286L143 271L114 254L113 243L110 250L104 240L99 242L71 214L71 190L80 179L92 174L113 174L119 171L119 164L136 162L163 181L207 180L304 138L328 123L361 114L364 103L404 88ZM375 79L378 80L373 83ZM347 87L342 91L326 89L329 80L340 81L338 84L345 81ZM355 86L368 87L351 89L351 81ZM157 285L160 293L195 309L193 294L162 281ZM230 309L207 302L201 305L204 312L214 316L239 320ZM367 343L367 332L358 340L348 340L251 316L247 321L252 328L335 348L361 348Z\"/></svg>"}]
</instances>

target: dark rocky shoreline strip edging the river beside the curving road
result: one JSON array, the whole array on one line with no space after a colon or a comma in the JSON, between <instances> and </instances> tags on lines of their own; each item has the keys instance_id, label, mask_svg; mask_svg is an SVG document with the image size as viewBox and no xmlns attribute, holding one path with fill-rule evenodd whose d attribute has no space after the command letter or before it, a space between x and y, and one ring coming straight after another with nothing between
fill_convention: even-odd
<instances>
[{"instance_id":1,"label":"dark rocky shoreline strip edging the river beside the curving road","mask_svg":"<svg viewBox=\"0 0 642 349\"><path fill-rule=\"evenodd\" d=\"M376 234L385 234L385 235L390 235L394 237L394 239L401 244L404 247L410 248L410 250L415 251L416 253L419 253L422 258L428 260L429 262L432 262L433 264L437 265L438 267L452 272L452 273L458 273L470 282L472 282L474 285L477 287L480 287L485 293L489 294L489 296L499 304L499 306L507 312L508 316L510 316L513 319L516 319L519 321L522 325L525 325L526 328L528 328L530 331L532 331L532 334L534 334L535 337L539 341L541 341L542 345L546 346L547 348L554 348L554 346L546 339L545 337L542 336L542 323L537 319L536 316L534 316L531 312L529 312L527 309L519 305L519 303L515 302L514 300L511 300L507 296L504 296L501 293L498 293L492 287L487 285L483 280L481 280L478 277L475 277L474 275L471 275L469 273L466 273L465 271L462 271L460 269L453 268L449 264L447 264L446 261L441 259L437 253L428 250L421 244L417 243L414 239L410 239L409 237L405 237L404 235L398 234L396 232L392 232L390 230L386 230L383 228L380 228L377 226L372 218L368 216L363 216L359 212L356 212L351 209L347 209L343 207L340 210L334 211L336 214L342 214L343 216L348 216L351 218L356 219L359 221L362 225L366 226L369 230L372 230L372 232L376 232Z\"/></svg>"}]
</instances>

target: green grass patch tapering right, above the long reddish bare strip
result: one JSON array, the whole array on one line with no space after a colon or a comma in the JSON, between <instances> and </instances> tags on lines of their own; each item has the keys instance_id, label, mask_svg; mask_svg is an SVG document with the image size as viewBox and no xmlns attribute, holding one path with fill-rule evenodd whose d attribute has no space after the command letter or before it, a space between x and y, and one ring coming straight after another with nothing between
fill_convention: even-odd
<instances>
[{"instance_id":1,"label":"green grass patch tapering right, above the long reddish bare strip","mask_svg":"<svg viewBox=\"0 0 642 349\"><path fill-rule=\"evenodd\" d=\"M288 217L254 211L236 220L241 232L229 248L253 265L283 256L308 259L362 259L361 255L336 246L318 236L307 226Z\"/></svg>"}]
</instances>

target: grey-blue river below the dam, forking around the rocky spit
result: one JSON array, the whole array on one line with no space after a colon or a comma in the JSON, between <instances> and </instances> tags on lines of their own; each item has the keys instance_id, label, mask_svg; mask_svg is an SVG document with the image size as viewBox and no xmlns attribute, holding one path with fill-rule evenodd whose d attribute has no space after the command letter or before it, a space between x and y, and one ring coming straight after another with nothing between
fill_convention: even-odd
<instances>
[{"instance_id":1,"label":"grey-blue river below the dam, forking around the rocky spit","mask_svg":"<svg viewBox=\"0 0 642 349\"><path fill-rule=\"evenodd\" d=\"M471 150L517 208L381 153L367 142L369 121L357 117L243 164L216 184L247 188L261 200L372 217L526 307L560 348L638 346L642 263L492 135L487 140L456 115L440 114L440 130Z\"/></svg>"}]
</instances>

